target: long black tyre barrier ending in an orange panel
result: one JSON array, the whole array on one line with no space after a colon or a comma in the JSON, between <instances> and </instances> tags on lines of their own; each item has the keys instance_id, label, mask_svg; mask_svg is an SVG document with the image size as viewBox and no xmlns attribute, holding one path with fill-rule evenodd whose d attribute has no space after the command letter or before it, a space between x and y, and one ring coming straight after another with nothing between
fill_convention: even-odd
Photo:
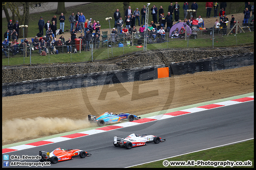
<instances>
[{"instance_id":1,"label":"long black tyre barrier ending in an orange panel","mask_svg":"<svg viewBox=\"0 0 256 170\"><path fill-rule=\"evenodd\" d=\"M112 70L2 84L2 97L169 77L169 66Z\"/></svg>"}]
</instances>

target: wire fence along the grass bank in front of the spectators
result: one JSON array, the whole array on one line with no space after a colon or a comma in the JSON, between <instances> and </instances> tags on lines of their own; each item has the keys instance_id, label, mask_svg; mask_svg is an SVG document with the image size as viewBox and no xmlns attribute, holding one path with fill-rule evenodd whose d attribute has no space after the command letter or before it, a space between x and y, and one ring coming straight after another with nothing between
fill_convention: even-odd
<instances>
[{"instance_id":1,"label":"wire fence along the grass bank in front of the spectators","mask_svg":"<svg viewBox=\"0 0 256 170\"><path fill-rule=\"evenodd\" d=\"M175 28L175 25L172 26ZM198 47L223 47L254 43L254 26L210 29L190 29L182 34L173 34L165 29L159 33L102 34L91 41L75 39L72 45L23 44L3 46L2 66L43 63L94 62L124 54L147 50L181 49ZM145 41L144 41L145 40ZM144 45L144 42L146 44ZM33 43L32 43L33 44Z\"/></svg>"}]
</instances>

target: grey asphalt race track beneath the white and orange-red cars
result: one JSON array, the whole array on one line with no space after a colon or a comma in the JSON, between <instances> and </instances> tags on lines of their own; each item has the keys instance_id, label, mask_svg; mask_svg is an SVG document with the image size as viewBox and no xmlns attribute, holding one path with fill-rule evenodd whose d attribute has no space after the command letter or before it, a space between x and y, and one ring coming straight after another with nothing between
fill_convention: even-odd
<instances>
[{"instance_id":1,"label":"grey asphalt race track beneath the white and orange-red cars","mask_svg":"<svg viewBox=\"0 0 256 170\"><path fill-rule=\"evenodd\" d=\"M118 126L118 124L116 125ZM132 133L157 135L165 138L166 141L159 144L148 143L146 146L132 149L113 146L114 136L126 137ZM51 164L50 168L123 168L249 138L254 138L254 101L185 114L7 154L10 156L36 156L40 150L51 152L57 147L82 149L92 155L83 159L78 156L71 160ZM12 161L14 160L9 160L9 162ZM38 160L16 161L38 162ZM16 167L25 168L25 166Z\"/></svg>"}]
</instances>

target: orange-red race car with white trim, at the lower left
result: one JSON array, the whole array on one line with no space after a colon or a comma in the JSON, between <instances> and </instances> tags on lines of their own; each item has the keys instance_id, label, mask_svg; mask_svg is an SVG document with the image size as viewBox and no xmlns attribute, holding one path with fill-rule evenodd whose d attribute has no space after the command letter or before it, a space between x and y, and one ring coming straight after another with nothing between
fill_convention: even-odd
<instances>
[{"instance_id":1,"label":"orange-red race car with white trim, at the lower left","mask_svg":"<svg viewBox=\"0 0 256 170\"><path fill-rule=\"evenodd\" d=\"M79 155L80 158L85 158L90 156L91 153L87 153L80 149L60 149L56 148L51 153L45 151L39 151L39 156L41 156L40 161L50 161L53 164L56 164L59 161L72 159L73 156Z\"/></svg>"}]
</instances>

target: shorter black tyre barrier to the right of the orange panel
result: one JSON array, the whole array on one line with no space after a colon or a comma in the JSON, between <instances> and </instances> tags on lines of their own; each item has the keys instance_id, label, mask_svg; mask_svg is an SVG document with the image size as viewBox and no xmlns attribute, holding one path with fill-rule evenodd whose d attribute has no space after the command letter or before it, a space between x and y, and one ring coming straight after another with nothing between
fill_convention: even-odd
<instances>
[{"instance_id":1,"label":"shorter black tyre barrier to the right of the orange panel","mask_svg":"<svg viewBox=\"0 0 256 170\"><path fill-rule=\"evenodd\" d=\"M230 68L254 65L254 52L237 55L219 56L212 58L182 61L170 64L170 74L193 74L196 72L213 72Z\"/></svg>"}]
</instances>

